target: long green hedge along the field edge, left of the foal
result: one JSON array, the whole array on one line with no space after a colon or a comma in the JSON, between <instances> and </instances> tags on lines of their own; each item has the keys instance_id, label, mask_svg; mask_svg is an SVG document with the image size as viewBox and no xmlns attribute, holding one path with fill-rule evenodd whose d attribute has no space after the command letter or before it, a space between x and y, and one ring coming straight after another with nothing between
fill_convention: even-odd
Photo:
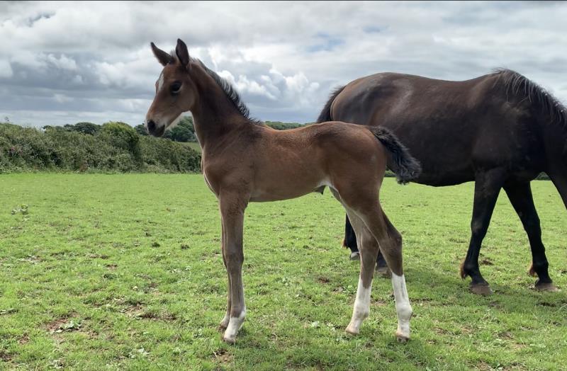
<instances>
[{"instance_id":1,"label":"long green hedge along the field edge, left of the foal","mask_svg":"<svg viewBox=\"0 0 567 371\"><path fill-rule=\"evenodd\" d=\"M107 122L88 132L69 126L73 127L45 126L41 131L0 123L0 172L200 169L201 156L188 145L142 137L123 122Z\"/></svg>"}]
</instances>

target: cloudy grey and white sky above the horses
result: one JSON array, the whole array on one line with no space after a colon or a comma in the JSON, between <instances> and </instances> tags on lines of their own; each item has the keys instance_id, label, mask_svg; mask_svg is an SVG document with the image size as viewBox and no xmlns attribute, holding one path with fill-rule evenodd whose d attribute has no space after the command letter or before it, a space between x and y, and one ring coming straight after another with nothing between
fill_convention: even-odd
<instances>
[{"instance_id":1,"label":"cloudy grey and white sky above the horses","mask_svg":"<svg viewBox=\"0 0 567 371\"><path fill-rule=\"evenodd\" d=\"M507 67L567 101L567 3L0 2L0 121L144 119L176 39L255 118L315 120L330 90L377 72L471 79Z\"/></svg>"}]
</instances>

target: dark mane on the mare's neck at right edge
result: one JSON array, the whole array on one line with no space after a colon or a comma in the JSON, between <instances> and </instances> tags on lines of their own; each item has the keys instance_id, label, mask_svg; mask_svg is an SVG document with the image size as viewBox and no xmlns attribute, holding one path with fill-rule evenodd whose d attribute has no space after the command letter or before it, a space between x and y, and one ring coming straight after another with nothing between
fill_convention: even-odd
<instances>
[{"instance_id":1,"label":"dark mane on the mare's neck at right edge","mask_svg":"<svg viewBox=\"0 0 567 371\"><path fill-rule=\"evenodd\" d=\"M499 75L495 84L502 84L506 94L511 92L539 105L539 109L549 114L552 121L567 129L567 108L546 89L511 69L495 69L493 74Z\"/></svg>"}]
</instances>

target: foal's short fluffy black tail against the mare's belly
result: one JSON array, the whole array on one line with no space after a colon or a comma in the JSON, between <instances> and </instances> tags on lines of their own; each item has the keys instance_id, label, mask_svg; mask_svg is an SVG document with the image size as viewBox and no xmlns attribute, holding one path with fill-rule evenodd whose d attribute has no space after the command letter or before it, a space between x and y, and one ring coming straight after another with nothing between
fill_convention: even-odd
<instances>
[{"instance_id":1,"label":"foal's short fluffy black tail against the mare's belly","mask_svg":"<svg viewBox=\"0 0 567 371\"><path fill-rule=\"evenodd\" d=\"M413 158L408 149L398 137L384 127L367 127L384 147L388 150L388 168L395 173L400 184L408 183L421 174L421 164Z\"/></svg>"}]
</instances>

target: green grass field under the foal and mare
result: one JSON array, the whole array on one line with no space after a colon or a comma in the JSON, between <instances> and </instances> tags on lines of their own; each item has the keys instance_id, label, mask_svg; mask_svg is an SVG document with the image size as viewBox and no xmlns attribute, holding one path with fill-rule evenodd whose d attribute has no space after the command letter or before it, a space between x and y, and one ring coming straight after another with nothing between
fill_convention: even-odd
<instances>
[{"instance_id":1,"label":"green grass field under the foal and mare","mask_svg":"<svg viewBox=\"0 0 567 371\"><path fill-rule=\"evenodd\" d=\"M247 320L235 346L225 312L215 197L200 175L0 176L0 362L68 370L558 370L567 365L567 213L533 183L550 274L532 290L529 246L505 194L481 252L495 295L468 293L471 184L386 179L381 197L404 237L415 316L395 341L391 282L374 280L359 336L358 264L340 247L344 214L328 191L251 204L245 222ZM28 205L28 214L11 210Z\"/></svg>"}]
</instances>

